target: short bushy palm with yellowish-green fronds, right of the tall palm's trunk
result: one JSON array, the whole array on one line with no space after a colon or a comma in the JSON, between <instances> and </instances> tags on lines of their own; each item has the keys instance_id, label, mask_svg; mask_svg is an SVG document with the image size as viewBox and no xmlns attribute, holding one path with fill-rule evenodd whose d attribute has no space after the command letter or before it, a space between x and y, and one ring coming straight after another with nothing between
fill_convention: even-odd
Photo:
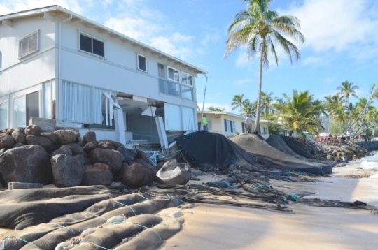
<instances>
[{"instance_id":1,"label":"short bushy palm with yellowish-green fronds, right of the tall palm's trunk","mask_svg":"<svg viewBox=\"0 0 378 250\"><path fill-rule=\"evenodd\" d=\"M293 97L283 94L286 102L274 103L274 107L279 110L283 119L283 124L290 129L290 136L293 132L299 134L304 140L304 131L318 133L323 126L316 119L321 114L319 105L314 105L313 96L308 91L298 92L293 90Z\"/></svg>"}]
</instances>

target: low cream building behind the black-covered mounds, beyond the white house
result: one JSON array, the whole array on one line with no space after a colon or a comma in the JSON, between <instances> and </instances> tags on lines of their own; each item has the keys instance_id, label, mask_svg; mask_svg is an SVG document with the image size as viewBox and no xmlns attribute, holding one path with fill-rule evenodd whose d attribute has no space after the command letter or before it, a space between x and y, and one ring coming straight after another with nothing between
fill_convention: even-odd
<instances>
[{"instance_id":1,"label":"low cream building behind the black-covered mounds, beyond the white house","mask_svg":"<svg viewBox=\"0 0 378 250\"><path fill-rule=\"evenodd\" d=\"M218 112L218 111L205 111L209 132L221 133L225 136L233 136L236 133L246 133L245 119L242 115L237 115L231 112ZM197 111L198 129L201 126L202 112ZM269 133L269 124L280 125L276 122L269 122L266 120L260 120L260 134ZM252 131L255 130L255 119L252 118Z\"/></svg>"}]
</instances>

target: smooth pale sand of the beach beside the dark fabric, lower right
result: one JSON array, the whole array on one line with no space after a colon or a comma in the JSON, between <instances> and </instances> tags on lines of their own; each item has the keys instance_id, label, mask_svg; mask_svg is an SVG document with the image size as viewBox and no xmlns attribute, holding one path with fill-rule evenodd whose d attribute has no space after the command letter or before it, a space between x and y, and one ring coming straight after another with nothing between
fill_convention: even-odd
<instances>
[{"instance_id":1,"label":"smooth pale sand of the beach beside the dark fabric, lower right","mask_svg":"<svg viewBox=\"0 0 378 250\"><path fill-rule=\"evenodd\" d=\"M369 178L346 178L349 175ZM314 193L307 198L361 200L378 205L376 170L358 165L334 168L319 182L272 180L282 191ZM378 249L378 216L370 211L290 205L295 214L262 209L197 205L184 210L183 230L162 249Z\"/></svg>"}]
</instances>

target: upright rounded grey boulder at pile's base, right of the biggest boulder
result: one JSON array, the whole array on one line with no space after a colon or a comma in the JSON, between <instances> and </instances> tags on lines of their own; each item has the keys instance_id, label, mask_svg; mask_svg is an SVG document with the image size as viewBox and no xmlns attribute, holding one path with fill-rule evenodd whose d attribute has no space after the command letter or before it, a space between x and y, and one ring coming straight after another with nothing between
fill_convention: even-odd
<instances>
[{"instance_id":1,"label":"upright rounded grey boulder at pile's base, right of the biggest boulder","mask_svg":"<svg viewBox=\"0 0 378 250\"><path fill-rule=\"evenodd\" d=\"M51 159L55 186L77 186L83 181L85 166L68 154L56 154Z\"/></svg>"}]
</instances>

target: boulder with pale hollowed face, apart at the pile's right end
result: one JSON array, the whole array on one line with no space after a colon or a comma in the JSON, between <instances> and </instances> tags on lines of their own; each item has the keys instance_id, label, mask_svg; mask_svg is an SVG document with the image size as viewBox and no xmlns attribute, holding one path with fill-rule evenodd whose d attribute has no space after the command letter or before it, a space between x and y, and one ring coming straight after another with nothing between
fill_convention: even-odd
<instances>
[{"instance_id":1,"label":"boulder with pale hollowed face, apart at the pile's right end","mask_svg":"<svg viewBox=\"0 0 378 250\"><path fill-rule=\"evenodd\" d=\"M190 181L190 166L177 163L176 159L167 161L156 173L156 182L162 184L185 185Z\"/></svg>"}]
</instances>

